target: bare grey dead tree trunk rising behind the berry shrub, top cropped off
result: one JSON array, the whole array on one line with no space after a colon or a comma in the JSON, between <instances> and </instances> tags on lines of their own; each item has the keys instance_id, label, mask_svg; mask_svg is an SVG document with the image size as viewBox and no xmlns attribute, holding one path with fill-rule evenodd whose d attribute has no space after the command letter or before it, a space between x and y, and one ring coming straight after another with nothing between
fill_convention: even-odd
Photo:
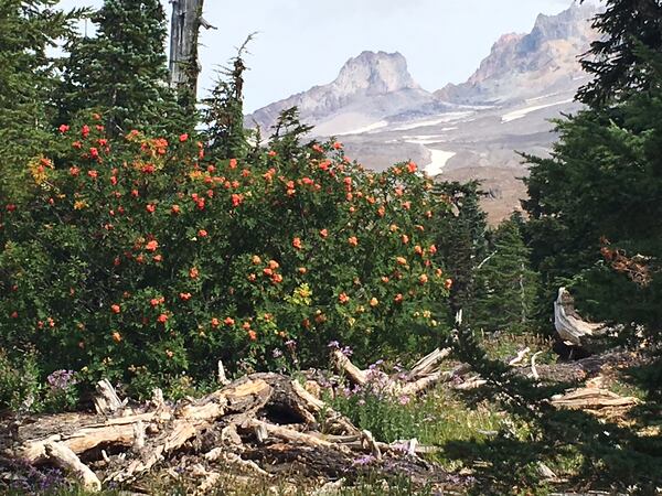
<instances>
[{"instance_id":1,"label":"bare grey dead tree trunk rising behind the berry shrub, top cropped off","mask_svg":"<svg viewBox=\"0 0 662 496\"><path fill-rule=\"evenodd\" d=\"M172 18L170 23L170 86L197 90L197 34L200 26L213 28L202 18L204 0L170 0Z\"/></svg>"}]
</instances>

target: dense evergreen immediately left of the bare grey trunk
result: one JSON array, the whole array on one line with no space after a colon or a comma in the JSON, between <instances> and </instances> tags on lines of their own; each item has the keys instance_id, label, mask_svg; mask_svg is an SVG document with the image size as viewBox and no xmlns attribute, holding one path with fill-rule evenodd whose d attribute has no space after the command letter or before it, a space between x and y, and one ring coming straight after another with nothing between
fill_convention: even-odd
<instances>
[{"instance_id":1,"label":"dense evergreen immediately left of the bare grey trunk","mask_svg":"<svg viewBox=\"0 0 662 496\"><path fill-rule=\"evenodd\" d=\"M67 46L61 120L95 109L111 133L190 130L195 116L168 87L166 13L159 0L106 0L92 20L96 37ZM188 110L188 111L186 111Z\"/></svg>"}]
</instances>

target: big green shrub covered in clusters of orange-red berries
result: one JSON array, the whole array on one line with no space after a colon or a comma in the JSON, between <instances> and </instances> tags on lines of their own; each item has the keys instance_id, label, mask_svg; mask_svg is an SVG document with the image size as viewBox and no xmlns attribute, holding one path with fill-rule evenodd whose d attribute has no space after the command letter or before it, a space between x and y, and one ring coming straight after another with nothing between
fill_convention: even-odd
<instances>
[{"instance_id":1,"label":"big green shrub covered in clusters of orange-red berries","mask_svg":"<svg viewBox=\"0 0 662 496\"><path fill-rule=\"evenodd\" d=\"M268 368L296 347L307 366L332 339L361 357L439 332L445 204L415 164L366 172L340 143L287 136L212 161L189 134L58 134L29 164L29 200L0 205L0 345L30 344L44 374L147 387L210 378L217 359Z\"/></svg>"}]
</instances>

